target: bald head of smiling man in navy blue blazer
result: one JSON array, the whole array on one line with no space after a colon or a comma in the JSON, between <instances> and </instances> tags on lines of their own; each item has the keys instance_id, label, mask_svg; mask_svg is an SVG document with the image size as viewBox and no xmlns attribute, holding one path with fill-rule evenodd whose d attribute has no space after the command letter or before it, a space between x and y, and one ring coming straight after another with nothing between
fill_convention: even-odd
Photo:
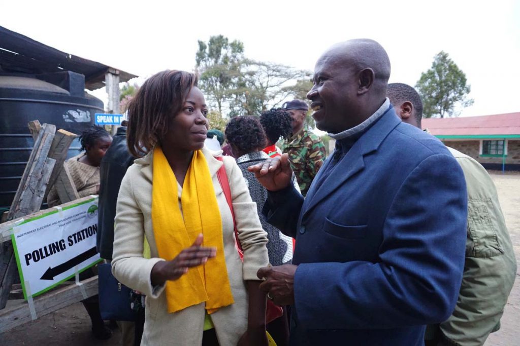
<instances>
[{"instance_id":1,"label":"bald head of smiling man in navy blue blazer","mask_svg":"<svg viewBox=\"0 0 520 346\"><path fill-rule=\"evenodd\" d=\"M369 118L386 98L390 60L379 43L352 39L318 59L314 86L307 94L318 129L337 133Z\"/></svg>"}]
</instances>

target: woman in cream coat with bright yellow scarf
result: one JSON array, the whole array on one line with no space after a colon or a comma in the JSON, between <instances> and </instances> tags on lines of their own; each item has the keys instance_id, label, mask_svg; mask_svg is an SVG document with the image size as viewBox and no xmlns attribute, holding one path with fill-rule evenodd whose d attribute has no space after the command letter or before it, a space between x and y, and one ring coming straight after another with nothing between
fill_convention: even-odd
<instances>
[{"instance_id":1,"label":"woman in cream coat with bright yellow scarf","mask_svg":"<svg viewBox=\"0 0 520 346\"><path fill-rule=\"evenodd\" d=\"M112 272L147 296L141 345L267 345L256 276L268 264L266 233L235 160L203 147L206 115L197 77L182 71L150 77L128 107L128 149L139 159L119 191Z\"/></svg>"}]
</instances>

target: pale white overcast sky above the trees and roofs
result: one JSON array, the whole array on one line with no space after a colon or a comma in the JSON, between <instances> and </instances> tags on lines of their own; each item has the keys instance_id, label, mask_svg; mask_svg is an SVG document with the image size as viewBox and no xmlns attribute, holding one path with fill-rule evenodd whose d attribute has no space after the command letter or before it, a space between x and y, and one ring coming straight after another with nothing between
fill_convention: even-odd
<instances>
[{"instance_id":1,"label":"pale white overcast sky above the trees and roofs","mask_svg":"<svg viewBox=\"0 0 520 346\"><path fill-rule=\"evenodd\" d=\"M248 58L307 70L334 43L372 38L388 52L390 81L412 86L444 50L471 84L462 116L520 112L520 2L479 3L0 0L0 25L144 77L191 71L197 40L218 34L241 40Z\"/></svg>"}]
</instances>

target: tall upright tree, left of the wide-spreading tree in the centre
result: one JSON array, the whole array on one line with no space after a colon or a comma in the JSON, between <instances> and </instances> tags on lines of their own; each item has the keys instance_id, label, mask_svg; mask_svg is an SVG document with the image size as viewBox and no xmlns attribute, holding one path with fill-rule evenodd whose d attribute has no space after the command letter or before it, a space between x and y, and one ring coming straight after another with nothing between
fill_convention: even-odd
<instances>
[{"instance_id":1,"label":"tall upright tree, left of the wide-spreading tree in the centre","mask_svg":"<svg viewBox=\"0 0 520 346\"><path fill-rule=\"evenodd\" d=\"M207 44L201 40L198 43L195 60L200 73L199 87L222 114L241 76L244 45L238 40L229 42L223 35L211 36Z\"/></svg>"}]
</instances>

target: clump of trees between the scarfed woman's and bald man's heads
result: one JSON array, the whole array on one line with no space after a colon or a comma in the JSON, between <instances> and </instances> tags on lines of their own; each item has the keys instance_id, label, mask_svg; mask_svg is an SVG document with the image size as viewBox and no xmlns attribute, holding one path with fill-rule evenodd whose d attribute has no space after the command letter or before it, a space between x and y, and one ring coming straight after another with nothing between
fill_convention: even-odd
<instances>
[{"instance_id":1,"label":"clump of trees between the scarfed woman's and bald man's heads","mask_svg":"<svg viewBox=\"0 0 520 346\"><path fill-rule=\"evenodd\" d=\"M279 106L301 91L298 80L310 76L308 71L290 66L246 59L243 44L223 35L198 42L199 87L209 104L228 117L259 115Z\"/></svg>"}]
</instances>

